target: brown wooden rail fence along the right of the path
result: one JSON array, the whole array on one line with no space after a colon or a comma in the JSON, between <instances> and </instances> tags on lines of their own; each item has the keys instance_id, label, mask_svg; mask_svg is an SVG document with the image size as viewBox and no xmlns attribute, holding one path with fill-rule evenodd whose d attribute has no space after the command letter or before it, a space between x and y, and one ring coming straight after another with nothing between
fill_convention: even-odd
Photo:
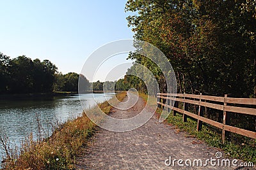
<instances>
[{"instance_id":1,"label":"brown wooden rail fence along the right of the path","mask_svg":"<svg viewBox=\"0 0 256 170\"><path fill-rule=\"evenodd\" d=\"M179 102L183 104L183 109L179 108ZM174 104L173 104L174 103ZM198 114L191 113L188 111L188 104L195 104L198 106ZM239 106L228 106L239 104ZM240 107L240 105L247 105ZM222 141L225 141L225 136L228 132L234 132L236 134L241 134L243 136L248 136L250 138L256 138L256 132L248 131L246 129L241 129L238 127L230 126L230 114L228 112L254 115L256 116L255 108L248 108L248 105L256 105L256 99L252 98L234 98L234 97L216 97L216 96L203 96L195 94L157 94L157 105L159 108L166 109L167 111L173 110L173 116L177 112L182 113L183 122L187 121L187 116L197 119L197 131L202 129L202 122L213 125L222 129ZM173 107L172 107L173 106ZM223 111L223 122L216 122L209 118L203 117L203 107L213 108L216 110ZM246 124L246 122L244 122Z\"/></svg>"}]
</instances>

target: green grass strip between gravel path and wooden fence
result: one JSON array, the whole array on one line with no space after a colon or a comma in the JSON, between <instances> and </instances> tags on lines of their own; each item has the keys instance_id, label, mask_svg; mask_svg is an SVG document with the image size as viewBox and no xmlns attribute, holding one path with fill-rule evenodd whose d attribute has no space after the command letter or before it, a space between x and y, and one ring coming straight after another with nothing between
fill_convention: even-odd
<instances>
[{"instance_id":1,"label":"green grass strip between gravel path and wooden fence","mask_svg":"<svg viewBox=\"0 0 256 170\"><path fill-rule=\"evenodd\" d=\"M140 94L140 96L147 101L148 96L146 94ZM162 111L163 110L157 108L156 114L160 116ZM183 117L179 113L177 113L175 117L170 113L168 118L165 120L165 123L175 125L177 132L188 132L188 137L195 136L196 138L205 141L205 143L210 146L221 148L228 157L256 164L256 139L235 135L237 138L240 138L239 141L242 139L243 143L236 143L236 138L232 139L232 141L225 141L225 143L223 143L221 141L221 134L218 132L220 129L212 127L211 125L203 124L202 131L196 131L197 120L188 117L188 121L183 122Z\"/></svg>"}]
</instances>

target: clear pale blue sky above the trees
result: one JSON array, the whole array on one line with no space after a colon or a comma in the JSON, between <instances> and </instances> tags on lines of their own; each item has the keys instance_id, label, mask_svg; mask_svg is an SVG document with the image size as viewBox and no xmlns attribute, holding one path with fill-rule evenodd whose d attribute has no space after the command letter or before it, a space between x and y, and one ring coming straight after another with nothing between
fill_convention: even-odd
<instances>
[{"instance_id":1,"label":"clear pale blue sky above the trees","mask_svg":"<svg viewBox=\"0 0 256 170\"><path fill-rule=\"evenodd\" d=\"M100 46L118 39L132 39L133 32L125 19L129 15L124 12L125 3L125 0L0 1L0 52L12 58L26 55L31 59L49 59L63 74L80 73L86 58ZM127 62L126 57L118 55L109 64ZM102 66L102 72L111 69L108 62ZM104 80L103 74L98 77Z\"/></svg>"}]
</instances>

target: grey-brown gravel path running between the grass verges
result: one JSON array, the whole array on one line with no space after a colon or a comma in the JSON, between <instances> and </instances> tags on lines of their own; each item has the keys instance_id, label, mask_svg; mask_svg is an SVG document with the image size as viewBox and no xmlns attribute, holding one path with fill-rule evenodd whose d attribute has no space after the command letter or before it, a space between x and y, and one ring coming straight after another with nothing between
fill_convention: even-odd
<instances>
[{"instance_id":1,"label":"grey-brown gravel path running between the grass verges","mask_svg":"<svg viewBox=\"0 0 256 170\"><path fill-rule=\"evenodd\" d=\"M127 99L125 99L127 100ZM120 103L122 104L122 103ZM133 117L145 105L141 97L129 110L116 110L111 117ZM147 124L129 132L111 132L98 128L83 154L77 157L77 169L234 169L234 167L211 166L166 166L164 161L173 159L216 159L216 148L207 146L195 138L186 138L186 133L173 126L159 123L154 115ZM166 162L167 164L169 161ZM189 162L187 162L189 164ZM196 163L196 162L195 162ZM184 162L182 162L184 164Z\"/></svg>"}]
</instances>

